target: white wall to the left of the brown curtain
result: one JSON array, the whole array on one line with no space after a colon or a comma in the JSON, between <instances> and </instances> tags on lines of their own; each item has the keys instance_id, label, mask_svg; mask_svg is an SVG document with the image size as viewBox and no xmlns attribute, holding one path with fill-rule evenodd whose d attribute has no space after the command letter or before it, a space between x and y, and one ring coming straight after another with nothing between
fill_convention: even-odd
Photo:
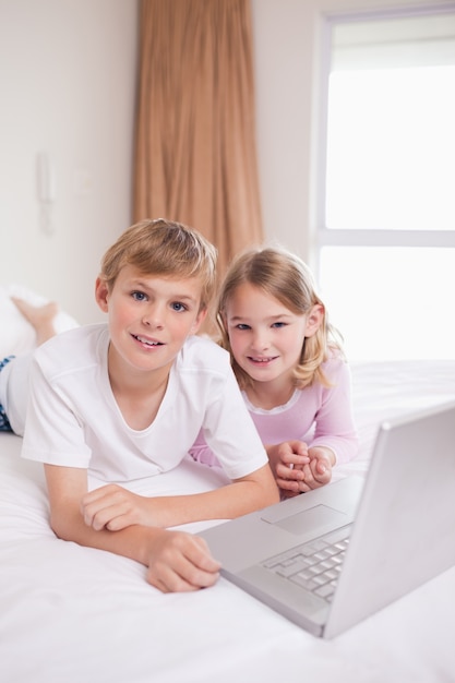
<instances>
[{"instance_id":1,"label":"white wall to the left of the brown curtain","mask_svg":"<svg viewBox=\"0 0 455 683\"><path fill-rule=\"evenodd\" d=\"M0 0L0 283L80 322L105 249L130 225L135 0ZM56 170L55 231L40 227L36 157Z\"/></svg>"}]
</instances>

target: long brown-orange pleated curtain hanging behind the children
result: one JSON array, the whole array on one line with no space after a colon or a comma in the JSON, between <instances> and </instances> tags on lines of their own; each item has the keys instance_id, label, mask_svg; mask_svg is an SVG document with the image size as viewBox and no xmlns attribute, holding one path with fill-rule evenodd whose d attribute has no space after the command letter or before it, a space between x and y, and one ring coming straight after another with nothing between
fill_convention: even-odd
<instances>
[{"instance_id":1,"label":"long brown-orange pleated curtain hanging behind the children","mask_svg":"<svg viewBox=\"0 0 455 683\"><path fill-rule=\"evenodd\" d=\"M261 241L250 0L142 0L134 219Z\"/></svg>"}]
</instances>

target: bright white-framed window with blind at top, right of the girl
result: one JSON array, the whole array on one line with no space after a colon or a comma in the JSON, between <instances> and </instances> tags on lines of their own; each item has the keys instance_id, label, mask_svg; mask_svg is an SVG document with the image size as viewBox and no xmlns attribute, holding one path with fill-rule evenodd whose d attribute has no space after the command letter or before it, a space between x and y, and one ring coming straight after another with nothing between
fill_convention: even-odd
<instances>
[{"instance_id":1,"label":"bright white-framed window with blind at top, right of the girl","mask_svg":"<svg viewBox=\"0 0 455 683\"><path fill-rule=\"evenodd\" d=\"M455 12L326 28L318 275L330 315L352 360L455 358Z\"/></svg>"}]
</instances>

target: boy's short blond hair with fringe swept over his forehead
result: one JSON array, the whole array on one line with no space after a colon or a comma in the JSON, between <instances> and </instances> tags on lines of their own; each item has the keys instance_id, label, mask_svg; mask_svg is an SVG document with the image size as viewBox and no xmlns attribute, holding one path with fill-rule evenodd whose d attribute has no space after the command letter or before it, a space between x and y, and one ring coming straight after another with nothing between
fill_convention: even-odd
<instances>
[{"instance_id":1,"label":"boy's short blond hair with fringe swept over his forehead","mask_svg":"<svg viewBox=\"0 0 455 683\"><path fill-rule=\"evenodd\" d=\"M99 276L109 289L125 265L143 275L196 277L202 285L200 309L204 310L215 291L216 257L215 247L197 230L164 218L142 220L127 228L107 250Z\"/></svg>"}]
</instances>

